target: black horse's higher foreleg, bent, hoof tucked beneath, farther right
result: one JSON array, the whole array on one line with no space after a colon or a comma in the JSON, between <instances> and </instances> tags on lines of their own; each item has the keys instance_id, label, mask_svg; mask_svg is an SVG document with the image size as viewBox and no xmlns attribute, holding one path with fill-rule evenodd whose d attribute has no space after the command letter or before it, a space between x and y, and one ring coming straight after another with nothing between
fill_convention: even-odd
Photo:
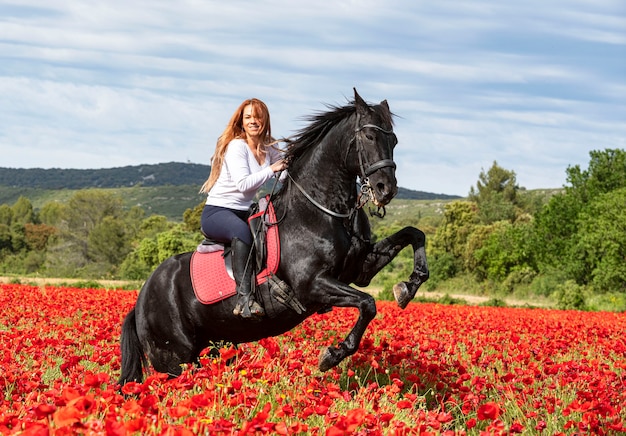
<instances>
[{"instance_id":1,"label":"black horse's higher foreleg, bent, hoof tucked beneath, farther right","mask_svg":"<svg viewBox=\"0 0 626 436\"><path fill-rule=\"evenodd\" d=\"M405 308L415 297L420 285L428 280L428 263L425 250L426 236L415 227L405 227L393 235L377 242L367 255L363 270L355 283L367 286L378 272L391 262L409 244L413 247L413 272L406 282L393 287L393 295L398 306Z\"/></svg>"}]
</instances>

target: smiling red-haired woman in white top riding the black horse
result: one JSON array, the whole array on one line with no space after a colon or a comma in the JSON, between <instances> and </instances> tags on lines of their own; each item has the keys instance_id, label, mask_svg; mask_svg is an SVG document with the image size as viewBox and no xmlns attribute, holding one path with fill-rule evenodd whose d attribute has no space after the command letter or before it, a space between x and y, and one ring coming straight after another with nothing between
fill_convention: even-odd
<instances>
[{"instance_id":1,"label":"smiling red-haired woman in white top riding the black horse","mask_svg":"<svg viewBox=\"0 0 626 436\"><path fill-rule=\"evenodd\" d=\"M287 166L282 153L271 146L275 142L265 103L256 98L245 100L217 140L211 174L200 189L208 194L202 233L231 246L238 299L233 313L242 318L265 314L254 300L252 235L247 219L259 188Z\"/></svg>"}]
</instances>

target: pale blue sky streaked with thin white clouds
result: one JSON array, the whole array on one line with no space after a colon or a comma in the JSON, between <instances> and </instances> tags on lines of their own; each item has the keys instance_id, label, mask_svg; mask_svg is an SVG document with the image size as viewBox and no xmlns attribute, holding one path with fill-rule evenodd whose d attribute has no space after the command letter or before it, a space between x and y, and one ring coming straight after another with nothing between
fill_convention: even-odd
<instances>
[{"instance_id":1,"label":"pale blue sky streaked with thin white clouds","mask_svg":"<svg viewBox=\"0 0 626 436\"><path fill-rule=\"evenodd\" d=\"M244 99L288 137L353 88L403 188L559 188L626 148L626 2L0 0L0 167L208 165Z\"/></svg>"}]
</instances>

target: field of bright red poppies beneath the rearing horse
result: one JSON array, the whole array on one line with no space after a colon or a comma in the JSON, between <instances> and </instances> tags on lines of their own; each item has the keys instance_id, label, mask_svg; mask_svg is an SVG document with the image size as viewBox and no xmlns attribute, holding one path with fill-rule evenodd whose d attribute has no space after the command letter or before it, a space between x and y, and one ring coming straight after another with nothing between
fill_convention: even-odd
<instances>
[{"instance_id":1,"label":"field of bright red poppies beneath the rearing horse","mask_svg":"<svg viewBox=\"0 0 626 436\"><path fill-rule=\"evenodd\" d=\"M626 431L626 314L378 302L360 350L328 372L319 353L355 310L120 393L120 327L136 296L0 285L0 434Z\"/></svg>"}]
</instances>

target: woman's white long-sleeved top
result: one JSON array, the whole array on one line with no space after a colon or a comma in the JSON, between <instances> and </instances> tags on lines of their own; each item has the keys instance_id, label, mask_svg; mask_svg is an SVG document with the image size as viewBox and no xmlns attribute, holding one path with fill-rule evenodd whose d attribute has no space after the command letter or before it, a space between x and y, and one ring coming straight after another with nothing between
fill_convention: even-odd
<instances>
[{"instance_id":1,"label":"woman's white long-sleeved top","mask_svg":"<svg viewBox=\"0 0 626 436\"><path fill-rule=\"evenodd\" d=\"M209 191L206 204L247 210L259 188L274 176L270 165L282 158L282 152L268 147L265 161L259 165L246 141L233 139L228 144L222 171Z\"/></svg>"}]
</instances>

